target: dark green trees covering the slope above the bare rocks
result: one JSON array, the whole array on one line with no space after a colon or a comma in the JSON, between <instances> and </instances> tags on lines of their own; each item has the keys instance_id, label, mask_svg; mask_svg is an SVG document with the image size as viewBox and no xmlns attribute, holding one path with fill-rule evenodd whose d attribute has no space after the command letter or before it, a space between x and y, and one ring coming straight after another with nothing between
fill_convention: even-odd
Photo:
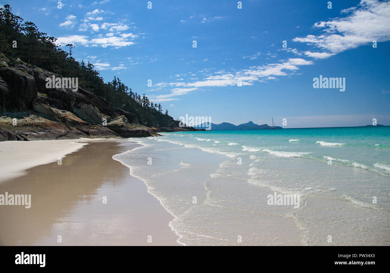
<instances>
[{"instance_id":1,"label":"dark green trees covering the slope above the bare rocks","mask_svg":"<svg viewBox=\"0 0 390 273\"><path fill-rule=\"evenodd\" d=\"M49 70L64 77L78 77L81 88L105 98L110 107L135 114L138 122L149 127L173 127L168 110L163 113L161 104L153 104L145 94L133 92L117 77L105 83L94 65L76 61L72 44L67 44L69 53L55 44L56 38L39 32L32 22L12 14L11 7L0 8L0 56L9 60L3 66L14 66L22 61L28 65ZM2 63L2 62L0 62Z\"/></svg>"}]
</instances>

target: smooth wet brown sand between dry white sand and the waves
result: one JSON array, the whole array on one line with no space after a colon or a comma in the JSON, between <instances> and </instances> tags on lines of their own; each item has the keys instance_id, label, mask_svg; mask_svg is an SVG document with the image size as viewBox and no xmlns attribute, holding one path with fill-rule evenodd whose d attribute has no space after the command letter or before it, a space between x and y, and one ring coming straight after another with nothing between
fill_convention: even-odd
<instances>
[{"instance_id":1,"label":"smooth wet brown sand between dry white sand and the waves","mask_svg":"<svg viewBox=\"0 0 390 273\"><path fill-rule=\"evenodd\" d=\"M0 245L179 245L168 226L173 216L112 159L137 146L127 139L91 141L61 165L2 180L0 194L31 194L31 208L0 206Z\"/></svg>"}]
</instances>

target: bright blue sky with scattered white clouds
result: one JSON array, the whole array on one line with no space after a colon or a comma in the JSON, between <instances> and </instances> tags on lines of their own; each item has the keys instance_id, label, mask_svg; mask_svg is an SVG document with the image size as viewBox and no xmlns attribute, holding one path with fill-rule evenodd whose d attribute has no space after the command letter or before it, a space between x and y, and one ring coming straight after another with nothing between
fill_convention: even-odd
<instances>
[{"instance_id":1,"label":"bright blue sky with scattered white clouds","mask_svg":"<svg viewBox=\"0 0 390 273\"><path fill-rule=\"evenodd\" d=\"M319 0L244 0L242 9L238 1L152 0L151 9L139 0L61 1L62 9L57 2L1 4L175 119L390 125L390 2L331 1L332 9ZM313 88L319 75L345 77L345 91Z\"/></svg>"}]
</instances>

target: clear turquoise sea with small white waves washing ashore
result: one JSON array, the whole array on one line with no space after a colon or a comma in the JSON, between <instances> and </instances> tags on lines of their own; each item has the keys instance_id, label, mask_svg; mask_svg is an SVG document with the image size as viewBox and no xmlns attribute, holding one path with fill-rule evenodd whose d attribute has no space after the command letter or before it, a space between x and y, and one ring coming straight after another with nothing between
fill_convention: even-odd
<instances>
[{"instance_id":1,"label":"clear turquoise sea with small white waves washing ashore","mask_svg":"<svg viewBox=\"0 0 390 273\"><path fill-rule=\"evenodd\" d=\"M390 127L162 134L113 159L183 245L390 245ZM275 192L299 208L270 205Z\"/></svg>"}]
</instances>

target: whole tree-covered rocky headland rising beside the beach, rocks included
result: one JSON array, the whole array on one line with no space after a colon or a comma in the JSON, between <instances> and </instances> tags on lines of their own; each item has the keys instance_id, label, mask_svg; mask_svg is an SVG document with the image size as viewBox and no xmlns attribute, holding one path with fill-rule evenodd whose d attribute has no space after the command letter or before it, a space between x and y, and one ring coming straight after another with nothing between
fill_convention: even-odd
<instances>
[{"instance_id":1,"label":"whole tree-covered rocky headland rising beside the beach, rocks included","mask_svg":"<svg viewBox=\"0 0 390 273\"><path fill-rule=\"evenodd\" d=\"M0 140L146 137L197 130L116 76L105 83L90 62L78 62L32 22L0 8ZM77 90L47 79L77 79ZM75 92L76 91L76 92Z\"/></svg>"}]
</instances>

